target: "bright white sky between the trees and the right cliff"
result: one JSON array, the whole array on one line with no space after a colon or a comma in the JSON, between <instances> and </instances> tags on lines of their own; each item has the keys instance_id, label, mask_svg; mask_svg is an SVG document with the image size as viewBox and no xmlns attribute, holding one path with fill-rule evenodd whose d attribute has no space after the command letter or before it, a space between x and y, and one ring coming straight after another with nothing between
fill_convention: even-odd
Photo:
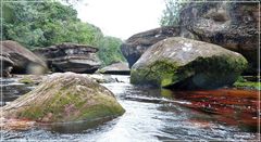
<instances>
[{"instance_id":1,"label":"bright white sky between the trees and the right cliff","mask_svg":"<svg viewBox=\"0 0 261 142\"><path fill-rule=\"evenodd\" d=\"M127 39L159 27L163 0L84 0L76 7L78 17L101 28L105 36Z\"/></svg>"}]
</instances>

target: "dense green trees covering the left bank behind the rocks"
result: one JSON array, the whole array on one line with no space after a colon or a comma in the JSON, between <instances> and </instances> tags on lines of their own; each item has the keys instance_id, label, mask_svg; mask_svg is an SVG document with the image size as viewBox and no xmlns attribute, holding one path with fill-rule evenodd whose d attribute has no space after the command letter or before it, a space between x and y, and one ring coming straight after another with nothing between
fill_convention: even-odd
<instances>
[{"instance_id":1,"label":"dense green trees covering the left bank behind the rocks","mask_svg":"<svg viewBox=\"0 0 261 142\"><path fill-rule=\"evenodd\" d=\"M33 50L62 42L94 46L100 49L104 65L123 61L122 41L104 37L102 31L77 18L72 5L45 0L45 2L4 2L1 21L2 40L14 40Z\"/></svg>"}]
</instances>

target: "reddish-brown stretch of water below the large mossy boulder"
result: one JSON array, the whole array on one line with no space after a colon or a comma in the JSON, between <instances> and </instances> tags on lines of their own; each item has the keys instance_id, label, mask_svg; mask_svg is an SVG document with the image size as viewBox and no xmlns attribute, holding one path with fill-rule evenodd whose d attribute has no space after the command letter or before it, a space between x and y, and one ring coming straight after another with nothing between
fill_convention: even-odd
<instances>
[{"instance_id":1,"label":"reddish-brown stretch of water below the large mossy boulder","mask_svg":"<svg viewBox=\"0 0 261 142\"><path fill-rule=\"evenodd\" d=\"M258 108L260 105L259 91L219 89L201 91L172 92L177 100L186 100L189 108L212 114L220 122L248 127L258 131Z\"/></svg>"}]
</instances>

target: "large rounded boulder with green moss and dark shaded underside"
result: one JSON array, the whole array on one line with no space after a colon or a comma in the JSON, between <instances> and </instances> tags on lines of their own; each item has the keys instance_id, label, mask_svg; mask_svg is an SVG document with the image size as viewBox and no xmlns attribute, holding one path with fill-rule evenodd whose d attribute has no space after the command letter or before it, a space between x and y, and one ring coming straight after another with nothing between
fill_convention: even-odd
<instances>
[{"instance_id":1,"label":"large rounded boulder with green moss and dark shaded underside","mask_svg":"<svg viewBox=\"0 0 261 142\"><path fill-rule=\"evenodd\" d=\"M186 38L167 38L134 64L130 82L174 89L214 89L232 85L246 68L239 53Z\"/></svg>"}]
</instances>

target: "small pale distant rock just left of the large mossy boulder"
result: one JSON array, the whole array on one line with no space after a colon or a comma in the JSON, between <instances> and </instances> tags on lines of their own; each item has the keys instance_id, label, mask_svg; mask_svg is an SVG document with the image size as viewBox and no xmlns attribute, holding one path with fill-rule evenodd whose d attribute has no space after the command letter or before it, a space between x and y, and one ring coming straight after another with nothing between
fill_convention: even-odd
<instances>
[{"instance_id":1,"label":"small pale distant rock just left of the large mossy boulder","mask_svg":"<svg viewBox=\"0 0 261 142\"><path fill-rule=\"evenodd\" d=\"M119 62L99 69L98 73L111 75L129 75L130 69L128 68L127 63Z\"/></svg>"}]
</instances>

